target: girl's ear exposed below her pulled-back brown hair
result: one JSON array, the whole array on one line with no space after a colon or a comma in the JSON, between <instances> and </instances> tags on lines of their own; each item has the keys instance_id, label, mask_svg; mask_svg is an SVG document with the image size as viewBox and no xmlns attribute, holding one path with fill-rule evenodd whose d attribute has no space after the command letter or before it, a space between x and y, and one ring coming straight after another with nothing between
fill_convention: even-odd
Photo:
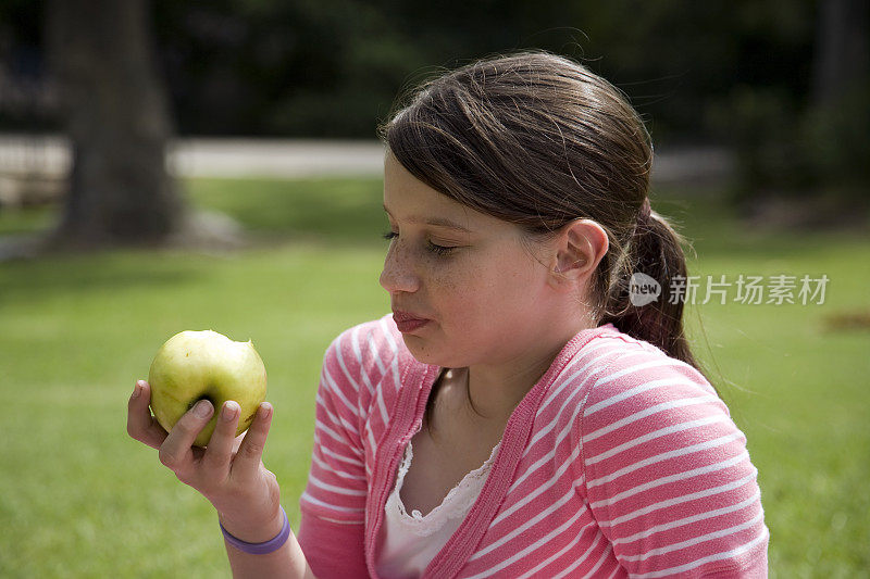
<instances>
[{"instance_id":1,"label":"girl's ear exposed below her pulled-back brown hair","mask_svg":"<svg viewBox=\"0 0 870 579\"><path fill-rule=\"evenodd\" d=\"M610 247L607 232L592 219L566 224L554 241L550 285L564 289L585 280Z\"/></svg>"}]
</instances>

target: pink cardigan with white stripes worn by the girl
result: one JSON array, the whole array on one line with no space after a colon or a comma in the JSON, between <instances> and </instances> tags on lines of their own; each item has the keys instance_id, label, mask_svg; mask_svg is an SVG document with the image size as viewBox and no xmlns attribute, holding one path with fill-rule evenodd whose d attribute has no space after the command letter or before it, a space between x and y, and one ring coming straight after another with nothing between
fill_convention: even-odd
<instances>
[{"instance_id":1,"label":"pink cardigan with white stripes worn by the girl","mask_svg":"<svg viewBox=\"0 0 870 579\"><path fill-rule=\"evenodd\" d=\"M299 502L319 578L377 576L385 502L439 369L414 360L389 315L327 349ZM693 367L612 324L583 330L514 408L424 577L766 577L745 444Z\"/></svg>"}]
</instances>

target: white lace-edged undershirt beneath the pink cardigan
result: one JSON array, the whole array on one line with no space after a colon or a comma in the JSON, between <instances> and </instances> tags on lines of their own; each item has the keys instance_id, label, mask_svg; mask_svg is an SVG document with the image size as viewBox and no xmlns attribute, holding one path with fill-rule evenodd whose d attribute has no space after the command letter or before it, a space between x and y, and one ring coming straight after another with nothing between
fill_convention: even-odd
<instances>
[{"instance_id":1,"label":"white lace-edged undershirt beneath the pink cardigan","mask_svg":"<svg viewBox=\"0 0 870 579\"><path fill-rule=\"evenodd\" d=\"M423 516L417 509L409 515L399 495L413 458L411 441L408 441L396 484L387 498L384 524L381 526L378 541L383 546L376 562L381 577L417 579L423 575L426 566L456 532L477 500L500 445L500 442L496 444L489 458L480 468L465 475L459 484L450 489L442 504Z\"/></svg>"}]
</instances>

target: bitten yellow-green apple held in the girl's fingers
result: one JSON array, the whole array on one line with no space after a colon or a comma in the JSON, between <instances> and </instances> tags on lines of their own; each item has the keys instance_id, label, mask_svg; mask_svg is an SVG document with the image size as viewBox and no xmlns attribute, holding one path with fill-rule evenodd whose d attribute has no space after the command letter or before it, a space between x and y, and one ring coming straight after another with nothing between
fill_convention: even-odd
<instances>
[{"instance_id":1,"label":"bitten yellow-green apple held in the girl's fingers","mask_svg":"<svg viewBox=\"0 0 870 579\"><path fill-rule=\"evenodd\" d=\"M200 400L214 406L214 415L194 444L208 444L221 406L234 400L241 407L236 436L253 421L265 400L265 367L250 341L234 342L216 331L186 330L158 350L148 373L151 410L166 431Z\"/></svg>"}]
</instances>

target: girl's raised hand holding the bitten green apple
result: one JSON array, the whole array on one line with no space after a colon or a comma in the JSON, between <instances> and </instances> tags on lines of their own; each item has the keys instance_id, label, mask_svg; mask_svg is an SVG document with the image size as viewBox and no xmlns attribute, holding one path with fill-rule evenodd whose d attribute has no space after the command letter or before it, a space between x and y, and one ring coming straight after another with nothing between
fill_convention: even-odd
<instances>
[{"instance_id":1,"label":"girl's raised hand holding the bitten green apple","mask_svg":"<svg viewBox=\"0 0 870 579\"><path fill-rule=\"evenodd\" d=\"M201 449L192 444L214 412L210 402L198 402L167 433L151 416L150 399L148 382L137 381L127 404L127 433L158 449L160 462L214 505L231 534L249 543L275 537L284 524L281 489L262 463L272 405L260 404L250 428L236 438L239 405L226 402L208 446Z\"/></svg>"}]
</instances>

